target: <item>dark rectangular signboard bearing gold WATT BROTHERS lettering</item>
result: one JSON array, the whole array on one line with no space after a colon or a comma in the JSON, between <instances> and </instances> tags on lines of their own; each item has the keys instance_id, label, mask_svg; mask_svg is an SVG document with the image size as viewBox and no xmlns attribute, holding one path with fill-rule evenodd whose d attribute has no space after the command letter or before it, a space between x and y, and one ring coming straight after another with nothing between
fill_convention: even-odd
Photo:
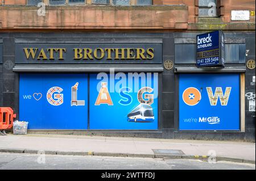
<instances>
[{"instance_id":1,"label":"dark rectangular signboard bearing gold WATT BROTHERS lettering","mask_svg":"<svg viewBox=\"0 0 256 181\"><path fill-rule=\"evenodd\" d=\"M161 64L162 44L16 44L16 64Z\"/></svg>"}]
</instances>

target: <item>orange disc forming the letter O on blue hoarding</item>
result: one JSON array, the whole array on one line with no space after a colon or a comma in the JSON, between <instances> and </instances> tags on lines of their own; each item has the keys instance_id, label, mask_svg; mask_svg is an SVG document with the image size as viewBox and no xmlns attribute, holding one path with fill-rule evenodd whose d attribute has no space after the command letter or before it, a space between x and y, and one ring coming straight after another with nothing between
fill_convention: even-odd
<instances>
[{"instance_id":1,"label":"orange disc forming the letter O on blue hoarding","mask_svg":"<svg viewBox=\"0 0 256 181\"><path fill-rule=\"evenodd\" d=\"M188 87L184 90L182 98L188 106L195 106L201 100L201 93L195 87Z\"/></svg>"}]
</instances>

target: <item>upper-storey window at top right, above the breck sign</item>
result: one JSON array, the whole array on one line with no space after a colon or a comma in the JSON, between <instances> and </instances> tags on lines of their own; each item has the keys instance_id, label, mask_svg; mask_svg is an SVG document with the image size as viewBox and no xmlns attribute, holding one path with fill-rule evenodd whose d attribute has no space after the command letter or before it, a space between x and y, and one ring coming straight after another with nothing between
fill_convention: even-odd
<instances>
[{"instance_id":1,"label":"upper-storey window at top right, above the breck sign","mask_svg":"<svg viewBox=\"0 0 256 181\"><path fill-rule=\"evenodd\" d=\"M217 0L199 0L199 16L216 17Z\"/></svg>"}]
</instances>

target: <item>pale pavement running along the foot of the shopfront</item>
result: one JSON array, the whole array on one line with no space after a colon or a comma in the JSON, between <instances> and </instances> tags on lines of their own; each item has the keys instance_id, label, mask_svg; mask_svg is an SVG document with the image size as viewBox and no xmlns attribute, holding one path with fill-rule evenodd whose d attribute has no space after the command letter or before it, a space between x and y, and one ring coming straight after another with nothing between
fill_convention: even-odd
<instances>
[{"instance_id":1,"label":"pale pavement running along the foot of the shopfront","mask_svg":"<svg viewBox=\"0 0 256 181\"><path fill-rule=\"evenodd\" d=\"M160 153L154 153L160 149ZM255 143L238 141L170 140L134 137L27 134L0 136L2 153L38 153L146 158L193 158L255 164ZM162 150L162 151L161 151ZM166 150L172 150L167 153ZM179 150L179 151L176 151Z\"/></svg>"}]
</instances>

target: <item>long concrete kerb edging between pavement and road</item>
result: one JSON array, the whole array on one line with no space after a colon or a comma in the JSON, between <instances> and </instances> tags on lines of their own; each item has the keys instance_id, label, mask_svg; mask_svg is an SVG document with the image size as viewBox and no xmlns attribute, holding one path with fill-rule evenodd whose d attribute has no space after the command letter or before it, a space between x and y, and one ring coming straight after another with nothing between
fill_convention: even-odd
<instances>
[{"instance_id":1,"label":"long concrete kerb edging between pavement and road","mask_svg":"<svg viewBox=\"0 0 256 181\"><path fill-rule=\"evenodd\" d=\"M0 153L26 153L26 154L49 154L49 155L80 155L80 156L101 156L101 157L138 157L138 158L163 158L163 159L208 159L208 155L167 155L167 154L137 154L137 153L108 153L94 151L53 151L33 149L5 149L0 148ZM229 161L239 163L251 163L254 160L242 158L216 157L216 161Z\"/></svg>"}]
</instances>

